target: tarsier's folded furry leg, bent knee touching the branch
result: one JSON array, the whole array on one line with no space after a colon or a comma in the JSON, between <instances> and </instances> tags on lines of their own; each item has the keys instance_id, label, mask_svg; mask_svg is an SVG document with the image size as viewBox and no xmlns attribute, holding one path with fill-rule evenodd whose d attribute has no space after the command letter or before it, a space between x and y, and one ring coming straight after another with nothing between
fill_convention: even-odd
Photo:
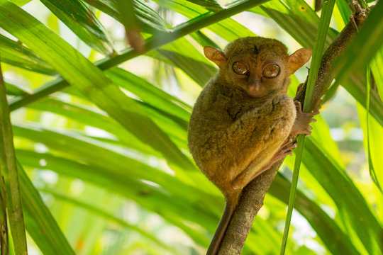
<instances>
[{"instance_id":1,"label":"tarsier's folded furry leg, bent knee touching the branch","mask_svg":"<svg viewBox=\"0 0 383 255\"><path fill-rule=\"evenodd\" d=\"M296 116L294 102L287 95L277 95L265 102L260 108L245 113L228 130L228 147L235 154L235 162L230 169L233 185L237 181L243 183L242 176L253 176L279 150L292 129ZM253 159L258 158L259 164L252 173L244 173ZM239 179L237 178L238 176ZM248 179L245 178L245 179Z\"/></svg>"}]
</instances>

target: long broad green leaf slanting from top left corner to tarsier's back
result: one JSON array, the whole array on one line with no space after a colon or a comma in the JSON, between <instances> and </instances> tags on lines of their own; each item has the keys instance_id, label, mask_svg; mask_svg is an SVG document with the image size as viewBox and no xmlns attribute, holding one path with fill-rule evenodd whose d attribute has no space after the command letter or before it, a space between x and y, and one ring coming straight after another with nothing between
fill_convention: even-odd
<instances>
[{"instance_id":1,"label":"long broad green leaf slanting from top left corner to tarsier's back","mask_svg":"<svg viewBox=\"0 0 383 255\"><path fill-rule=\"evenodd\" d=\"M77 50L14 4L1 0L0 13L3 13L0 14L1 27L26 42L84 96L91 98L91 101L109 113L138 139L162 152L172 164L183 169L194 169L189 159L148 118L138 104L123 94L100 69L94 67ZM29 29L23 29L25 26ZM61 50L55 50L55 45L60 45Z\"/></svg>"}]
</instances>

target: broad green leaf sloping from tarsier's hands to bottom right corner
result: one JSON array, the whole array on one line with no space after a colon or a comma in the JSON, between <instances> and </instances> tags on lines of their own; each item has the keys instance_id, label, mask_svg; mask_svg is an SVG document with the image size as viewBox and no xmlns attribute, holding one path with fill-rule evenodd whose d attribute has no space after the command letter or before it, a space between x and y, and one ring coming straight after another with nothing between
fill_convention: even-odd
<instances>
[{"instance_id":1,"label":"broad green leaf sloping from tarsier's hands to bottom right corner","mask_svg":"<svg viewBox=\"0 0 383 255\"><path fill-rule=\"evenodd\" d=\"M360 191L343 169L335 163L326 147L307 137L303 163L333 198L346 224L350 237L357 236L368 254L377 254L383 247L383 228L372 214ZM340 185L340 183L342 183ZM348 194L348 196L344 196Z\"/></svg>"}]
</instances>

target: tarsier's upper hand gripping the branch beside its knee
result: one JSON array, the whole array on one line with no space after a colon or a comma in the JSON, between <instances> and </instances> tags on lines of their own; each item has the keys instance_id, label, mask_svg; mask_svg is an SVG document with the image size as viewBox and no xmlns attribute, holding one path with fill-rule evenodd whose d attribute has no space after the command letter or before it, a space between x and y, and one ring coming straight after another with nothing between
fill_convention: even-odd
<instances>
[{"instance_id":1,"label":"tarsier's upper hand gripping the branch beside its knee","mask_svg":"<svg viewBox=\"0 0 383 255\"><path fill-rule=\"evenodd\" d=\"M290 132L290 135L310 135L310 130L312 130L313 128L309 124L316 122L316 119L314 119L313 116L317 115L319 111L314 111L313 113L302 113L301 103L299 101L295 101L294 104L296 108L296 118L292 126L292 132Z\"/></svg>"}]
</instances>

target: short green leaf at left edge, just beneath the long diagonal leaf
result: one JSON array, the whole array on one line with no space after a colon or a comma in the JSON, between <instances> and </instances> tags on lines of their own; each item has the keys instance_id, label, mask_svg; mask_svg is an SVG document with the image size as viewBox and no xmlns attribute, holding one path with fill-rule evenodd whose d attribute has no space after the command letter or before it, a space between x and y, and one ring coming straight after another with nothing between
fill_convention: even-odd
<instances>
[{"instance_id":1,"label":"short green leaf at left edge, just beneath the long diagonal leaf","mask_svg":"<svg viewBox=\"0 0 383 255\"><path fill-rule=\"evenodd\" d=\"M21 67L41 74L56 74L57 72L49 64L35 55L20 42L15 42L4 35L0 35L1 62Z\"/></svg>"}]
</instances>

